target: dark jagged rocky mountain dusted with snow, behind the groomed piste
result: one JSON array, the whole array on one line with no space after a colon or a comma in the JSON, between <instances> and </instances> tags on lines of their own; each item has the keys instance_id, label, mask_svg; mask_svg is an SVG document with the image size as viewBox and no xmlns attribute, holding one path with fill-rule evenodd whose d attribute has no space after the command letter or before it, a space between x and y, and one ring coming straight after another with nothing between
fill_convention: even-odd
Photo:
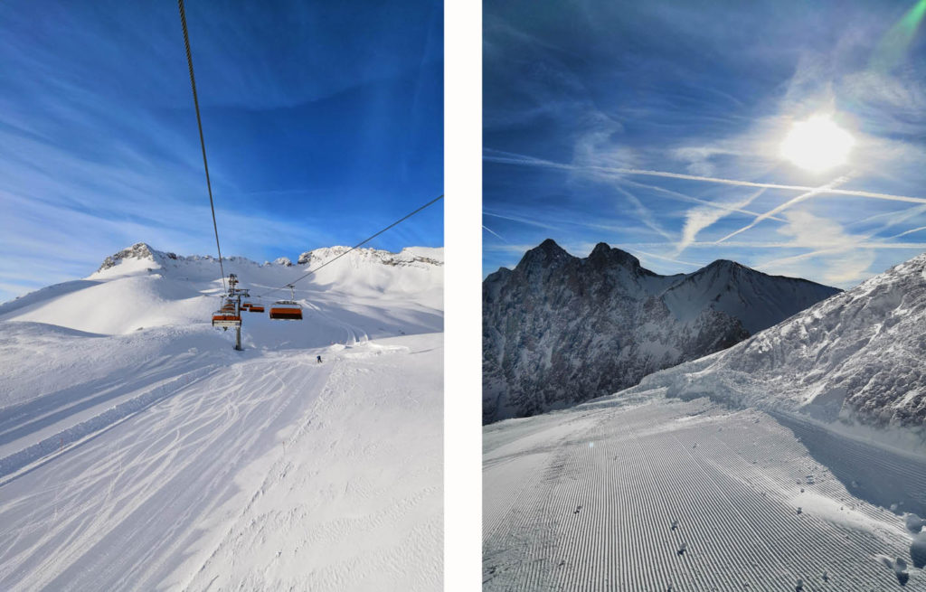
<instances>
[{"instance_id":1,"label":"dark jagged rocky mountain dusted with snow, behind the groomed piste","mask_svg":"<svg viewBox=\"0 0 926 592\"><path fill-rule=\"evenodd\" d=\"M728 261L658 276L604 243L579 259L545 240L482 284L483 421L631 387L837 291Z\"/></svg>"}]
</instances>

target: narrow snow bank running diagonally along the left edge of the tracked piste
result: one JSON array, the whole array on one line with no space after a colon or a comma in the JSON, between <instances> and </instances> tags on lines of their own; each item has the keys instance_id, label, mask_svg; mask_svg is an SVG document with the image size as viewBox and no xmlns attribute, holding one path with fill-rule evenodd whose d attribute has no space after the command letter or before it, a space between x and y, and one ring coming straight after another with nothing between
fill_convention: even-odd
<instances>
[{"instance_id":1,"label":"narrow snow bank running diagonally along the left edge of the tracked piste","mask_svg":"<svg viewBox=\"0 0 926 592\"><path fill-rule=\"evenodd\" d=\"M199 381L213 374L215 370L215 365L208 365L204 368L181 374L155 388L144 391L144 393L137 397L132 397L128 401L122 401L118 405L110 407L105 412L82 421L80 424L72 425L69 428L44 438L36 444L32 444L18 452L7 455L0 459L0 478L17 473L20 469L29 466L33 462L50 460L55 457L64 446L67 446L67 450L70 450L74 445L80 444L81 441L103 433L107 429L128 419L135 413L143 412L157 402L163 401L169 396L176 394L181 388L188 387L195 381ZM9 483L12 478L0 481L0 487Z\"/></svg>"}]
</instances>

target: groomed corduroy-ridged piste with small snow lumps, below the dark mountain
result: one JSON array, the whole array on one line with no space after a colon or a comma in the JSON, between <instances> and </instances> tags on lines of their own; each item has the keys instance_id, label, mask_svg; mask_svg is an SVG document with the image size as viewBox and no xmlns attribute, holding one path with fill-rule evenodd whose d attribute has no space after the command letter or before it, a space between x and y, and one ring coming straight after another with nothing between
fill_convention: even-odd
<instances>
[{"instance_id":1,"label":"groomed corduroy-ridged piste with small snow lumps, below the dark mountain","mask_svg":"<svg viewBox=\"0 0 926 592\"><path fill-rule=\"evenodd\" d=\"M483 428L485 590L926 589L926 459L653 394Z\"/></svg>"}]
</instances>

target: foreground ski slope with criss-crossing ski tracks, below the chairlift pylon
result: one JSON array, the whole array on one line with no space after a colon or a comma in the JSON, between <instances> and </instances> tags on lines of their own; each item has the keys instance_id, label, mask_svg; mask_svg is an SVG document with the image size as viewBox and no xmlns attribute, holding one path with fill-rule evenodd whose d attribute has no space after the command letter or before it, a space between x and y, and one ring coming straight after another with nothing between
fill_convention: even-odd
<instances>
[{"instance_id":1,"label":"foreground ski slope with criss-crossing ski tracks, below the chairlift pylon","mask_svg":"<svg viewBox=\"0 0 926 592\"><path fill-rule=\"evenodd\" d=\"M0 588L440 586L442 354L386 339L178 388L0 487Z\"/></svg>"}]
</instances>

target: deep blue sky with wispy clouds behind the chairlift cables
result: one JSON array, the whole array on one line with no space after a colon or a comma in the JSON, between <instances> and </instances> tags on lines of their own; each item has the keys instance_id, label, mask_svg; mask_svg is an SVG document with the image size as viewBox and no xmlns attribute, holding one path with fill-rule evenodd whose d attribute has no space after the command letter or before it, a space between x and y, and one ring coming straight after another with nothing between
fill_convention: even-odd
<instances>
[{"instance_id":1,"label":"deep blue sky with wispy clouds behind the chairlift cables","mask_svg":"<svg viewBox=\"0 0 926 592\"><path fill-rule=\"evenodd\" d=\"M354 244L444 192L443 4L189 2L222 253ZM215 254L176 3L0 3L0 302L137 241ZM443 245L443 204L370 243Z\"/></svg>"}]
</instances>

